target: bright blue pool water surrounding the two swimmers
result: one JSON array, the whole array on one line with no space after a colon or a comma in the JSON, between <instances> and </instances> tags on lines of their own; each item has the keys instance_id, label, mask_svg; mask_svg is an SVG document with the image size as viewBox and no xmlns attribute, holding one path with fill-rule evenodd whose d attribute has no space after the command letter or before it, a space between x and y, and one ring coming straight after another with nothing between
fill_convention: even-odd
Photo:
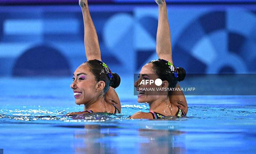
<instances>
[{"instance_id":1,"label":"bright blue pool water surrounding the two swimmers","mask_svg":"<svg viewBox=\"0 0 256 154\"><path fill-rule=\"evenodd\" d=\"M255 96L186 96L188 117L131 120L148 111L122 78L121 114L81 111L71 78L1 78L0 149L16 153L255 153Z\"/></svg>"}]
</instances>

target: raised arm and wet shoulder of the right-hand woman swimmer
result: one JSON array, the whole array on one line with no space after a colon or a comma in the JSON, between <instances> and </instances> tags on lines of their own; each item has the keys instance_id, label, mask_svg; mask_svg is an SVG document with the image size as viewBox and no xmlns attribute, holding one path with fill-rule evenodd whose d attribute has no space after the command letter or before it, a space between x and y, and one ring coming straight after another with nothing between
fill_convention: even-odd
<instances>
[{"instance_id":1,"label":"raised arm and wet shoulder of the right-hand woman swimmer","mask_svg":"<svg viewBox=\"0 0 256 154\"><path fill-rule=\"evenodd\" d=\"M171 34L167 17L166 3L164 0L155 0L158 4L158 28L157 28L157 55L158 58L167 60L173 64ZM177 84L176 87L180 87ZM169 97L171 104L180 106L187 113L187 102L182 91L175 91Z\"/></svg>"}]
</instances>

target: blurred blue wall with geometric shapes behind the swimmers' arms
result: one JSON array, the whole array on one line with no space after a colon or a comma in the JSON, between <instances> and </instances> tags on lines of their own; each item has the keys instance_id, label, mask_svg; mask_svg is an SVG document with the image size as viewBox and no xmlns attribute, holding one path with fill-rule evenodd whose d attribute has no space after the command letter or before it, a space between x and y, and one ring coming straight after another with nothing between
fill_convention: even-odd
<instances>
[{"instance_id":1,"label":"blurred blue wall with geometric shapes behind the swimmers' arms","mask_svg":"<svg viewBox=\"0 0 256 154\"><path fill-rule=\"evenodd\" d=\"M174 65L255 73L256 5L167 5ZM157 59L158 7L90 5L102 60L133 74ZM0 6L0 75L67 75L86 61L78 5Z\"/></svg>"}]
</instances>

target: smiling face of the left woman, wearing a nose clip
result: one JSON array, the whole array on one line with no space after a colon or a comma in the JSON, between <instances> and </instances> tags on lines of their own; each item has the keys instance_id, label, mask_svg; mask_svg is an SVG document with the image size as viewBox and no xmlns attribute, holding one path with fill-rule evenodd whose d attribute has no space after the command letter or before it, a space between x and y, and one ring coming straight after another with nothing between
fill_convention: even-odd
<instances>
[{"instance_id":1,"label":"smiling face of the left woman, wearing a nose clip","mask_svg":"<svg viewBox=\"0 0 256 154\"><path fill-rule=\"evenodd\" d=\"M100 95L97 89L95 76L90 72L87 64L80 65L73 74L73 83L70 87L74 91L75 104L87 104L96 101Z\"/></svg>"}]
</instances>

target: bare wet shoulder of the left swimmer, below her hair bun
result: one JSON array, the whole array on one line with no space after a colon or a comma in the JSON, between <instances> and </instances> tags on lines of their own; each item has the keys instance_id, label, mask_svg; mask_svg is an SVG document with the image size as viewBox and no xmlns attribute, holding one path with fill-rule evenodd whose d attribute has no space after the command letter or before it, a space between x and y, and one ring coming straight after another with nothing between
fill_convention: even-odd
<instances>
[{"instance_id":1,"label":"bare wet shoulder of the left swimmer, below her hair bun","mask_svg":"<svg viewBox=\"0 0 256 154\"><path fill-rule=\"evenodd\" d=\"M109 104L115 105L118 110L121 112L121 104L117 92L113 87L109 87L108 91L105 94L105 101Z\"/></svg>"}]
</instances>

